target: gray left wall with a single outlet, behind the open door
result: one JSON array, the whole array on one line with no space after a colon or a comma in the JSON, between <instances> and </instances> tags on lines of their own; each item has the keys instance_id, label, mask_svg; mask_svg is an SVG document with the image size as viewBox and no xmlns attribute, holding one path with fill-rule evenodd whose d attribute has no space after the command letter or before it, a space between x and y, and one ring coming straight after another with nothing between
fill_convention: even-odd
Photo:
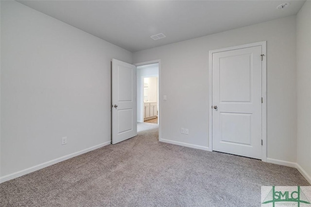
<instances>
[{"instance_id":1,"label":"gray left wall with a single outlet, behind the open door","mask_svg":"<svg viewBox=\"0 0 311 207\"><path fill-rule=\"evenodd\" d=\"M1 1L1 177L109 144L112 58L132 63L131 52Z\"/></svg>"}]
</instances>

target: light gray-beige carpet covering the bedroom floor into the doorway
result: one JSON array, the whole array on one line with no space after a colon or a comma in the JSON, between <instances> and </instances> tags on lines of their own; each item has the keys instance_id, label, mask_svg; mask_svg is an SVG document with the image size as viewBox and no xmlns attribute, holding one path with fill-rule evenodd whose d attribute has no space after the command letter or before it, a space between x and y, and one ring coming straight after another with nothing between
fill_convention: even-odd
<instances>
[{"instance_id":1,"label":"light gray-beige carpet covering the bedroom floor into the doorway","mask_svg":"<svg viewBox=\"0 0 311 207\"><path fill-rule=\"evenodd\" d=\"M251 207L260 186L309 186L294 168L138 136L0 184L0 206Z\"/></svg>"}]
</instances>

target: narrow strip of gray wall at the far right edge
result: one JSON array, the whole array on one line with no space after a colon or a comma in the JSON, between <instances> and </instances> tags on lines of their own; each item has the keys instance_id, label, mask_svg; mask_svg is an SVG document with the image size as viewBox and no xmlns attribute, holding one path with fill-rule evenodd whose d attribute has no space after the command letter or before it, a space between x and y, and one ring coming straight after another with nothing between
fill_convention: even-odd
<instances>
[{"instance_id":1,"label":"narrow strip of gray wall at the far right edge","mask_svg":"<svg viewBox=\"0 0 311 207\"><path fill-rule=\"evenodd\" d=\"M297 15L297 163L311 180L311 1Z\"/></svg>"}]
</instances>

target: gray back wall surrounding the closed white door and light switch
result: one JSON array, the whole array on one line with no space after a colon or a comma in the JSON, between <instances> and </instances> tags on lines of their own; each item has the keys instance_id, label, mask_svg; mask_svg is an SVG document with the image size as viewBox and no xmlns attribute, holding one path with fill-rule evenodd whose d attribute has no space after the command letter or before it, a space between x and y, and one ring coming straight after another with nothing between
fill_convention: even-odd
<instances>
[{"instance_id":1,"label":"gray back wall surrounding the closed white door and light switch","mask_svg":"<svg viewBox=\"0 0 311 207\"><path fill-rule=\"evenodd\" d=\"M295 16L135 52L134 63L161 59L160 137L208 147L208 51L263 40L268 158L296 162ZM180 134L181 127L189 129L188 136Z\"/></svg>"}]
</instances>

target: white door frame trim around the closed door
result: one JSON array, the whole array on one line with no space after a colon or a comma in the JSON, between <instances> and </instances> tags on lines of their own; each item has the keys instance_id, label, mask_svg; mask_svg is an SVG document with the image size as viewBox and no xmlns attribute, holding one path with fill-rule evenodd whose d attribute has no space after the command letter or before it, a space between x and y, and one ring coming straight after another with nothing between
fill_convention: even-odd
<instances>
[{"instance_id":1,"label":"white door frame trim around the closed door","mask_svg":"<svg viewBox=\"0 0 311 207\"><path fill-rule=\"evenodd\" d=\"M250 44L238 45L228 48L222 48L217 50L209 51L209 69L208 69L208 150L213 151L212 148L212 54L216 52L225 52L232 50L239 50L243 48L250 48L261 46L261 52L264 54L261 62L261 96L263 104L261 104L261 160L267 161L267 41L255 42Z\"/></svg>"}]
</instances>

